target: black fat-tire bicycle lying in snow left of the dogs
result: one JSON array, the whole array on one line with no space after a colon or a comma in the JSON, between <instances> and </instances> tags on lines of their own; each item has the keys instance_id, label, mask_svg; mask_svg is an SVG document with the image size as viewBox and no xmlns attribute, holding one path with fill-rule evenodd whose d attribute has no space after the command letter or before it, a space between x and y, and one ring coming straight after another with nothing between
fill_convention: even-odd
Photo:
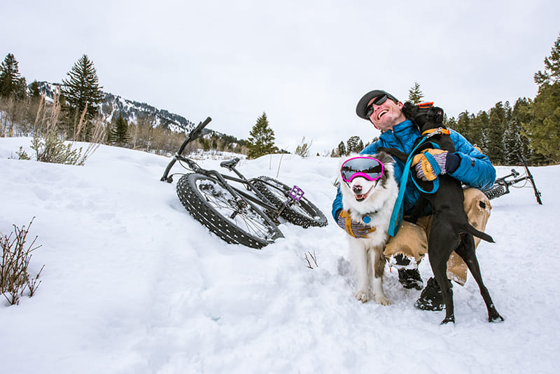
<instances>
[{"instance_id":1,"label":"black fat-tire bicycle lying in snow left of the dogs","mask_svg":"<svg viewBox=\"0 0 560 374\"><path fill-rule=\"evenodd\" d=\"M232 176L204 169L191 158L181 155L210 121L208 117L188 134L160 179L172 183L175 174L169 172L177 161L190 171L176 173L182 174L177 181L176 191L183 207L194 219L225 242L257 249L283 237L278 228L281 223L279 217L304 228L327 225L323 212L303 197L301 188L290 188L269 176L247 179L236 169L239 158L220 164L237 174ZM244 186L246 191L230 182Z\"/></svg>"}]
</instances>

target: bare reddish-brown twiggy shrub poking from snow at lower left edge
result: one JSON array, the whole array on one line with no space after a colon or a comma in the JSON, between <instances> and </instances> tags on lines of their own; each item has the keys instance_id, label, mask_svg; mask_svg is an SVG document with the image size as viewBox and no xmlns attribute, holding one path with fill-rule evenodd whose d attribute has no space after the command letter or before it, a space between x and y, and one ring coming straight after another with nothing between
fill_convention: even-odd
<instances>
[{"instance_id":1,"label":"bare reddish-brown twiggy shrub poking from snow at lower left edge","mask_svg":"<svg viewBox=\"0 0 560 374\"><path fill-rule=\"evenodd\" d=\"M0 247L2 249L0 293L11 305L20 303L20 297L23 296L25 289L29 290L29 297L33 296L39 284L41 284L38 277L45 265L41 267L35 277L29 277L29 272L27 272L27 267L31 261L31 252L41 247L40 245L34 247L37 237L27 246L27 249L25 246L27 234L34 219L35 217L31 219L27 228L25 226L18 228L18 226L13 225L14 230L8 236L0 233ZM14 236L13 239L12 235Z\"/></svg>"}]
</instances>

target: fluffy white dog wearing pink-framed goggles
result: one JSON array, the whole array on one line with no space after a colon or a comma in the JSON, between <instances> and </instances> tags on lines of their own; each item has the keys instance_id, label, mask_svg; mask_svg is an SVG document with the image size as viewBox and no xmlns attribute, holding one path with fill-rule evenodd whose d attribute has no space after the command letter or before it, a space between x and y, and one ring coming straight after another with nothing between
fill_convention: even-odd
<instances>
[{"instance_id":1,"label":"fluffy white dog wearing pink-framed goggles","mask_svg":"<svg viewBox=\"0 0 560 374\"><path fill-rule=\"evenodd\" d=\"M363 303L373 300L390 305L383 291L388 226L398 195L393 176L393 158L386 153L353 155L342 162L339 172L342 217L370 226L366 237L349 237L350 262L356 273L355 296ZM351 224L346 218L346 225ZM371 291L371 292L370 292Z\"/></svg>"}]
</instances>

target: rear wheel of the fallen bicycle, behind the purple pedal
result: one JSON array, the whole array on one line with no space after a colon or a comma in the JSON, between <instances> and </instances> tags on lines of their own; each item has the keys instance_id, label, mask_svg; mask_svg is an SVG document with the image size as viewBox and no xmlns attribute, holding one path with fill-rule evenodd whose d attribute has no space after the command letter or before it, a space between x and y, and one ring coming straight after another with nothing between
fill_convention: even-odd
<instances>
[{"instance_id":1,"label":"rear wheel of the fallen bicycle, behind the purple pedal","mask_svg":"<svg viewBox=\"0 0 560 374\"><path fill-rule=\"evenodd\" d=\"M259 176L253 180L253 186L265 195L265 197L272 202L273 205L280 205L288 198L288 193L291 188L281 181L276 181L269 176ZM292 205L286 207L280 214L286 221L294 225L323 227L327 226L327 219L323 212L318 209L307 198L302 198L300 201L293 202Z\"/></svg>"}]
</instances>

